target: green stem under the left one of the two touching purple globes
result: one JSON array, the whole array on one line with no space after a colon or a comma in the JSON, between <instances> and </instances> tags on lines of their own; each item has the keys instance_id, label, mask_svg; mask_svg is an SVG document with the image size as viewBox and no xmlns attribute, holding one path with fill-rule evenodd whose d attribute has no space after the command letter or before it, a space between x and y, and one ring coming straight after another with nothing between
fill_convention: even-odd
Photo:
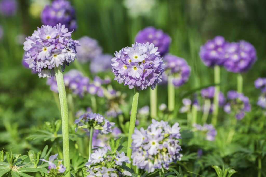
<instances>
[{"instance_id":1,"label":"green stem under the left one of the two touching purple globes","mask_svg":"<svg viewBox=\"0 0 266 177\"><path fill-rule=\"evenodd\" d=\"M220 92L220 67L218 65L214 66L214 84L215 84L215 92L213 98L213 126L217 123L217 116L219 111L219 92Z\"/></svg>"}]
</instances>

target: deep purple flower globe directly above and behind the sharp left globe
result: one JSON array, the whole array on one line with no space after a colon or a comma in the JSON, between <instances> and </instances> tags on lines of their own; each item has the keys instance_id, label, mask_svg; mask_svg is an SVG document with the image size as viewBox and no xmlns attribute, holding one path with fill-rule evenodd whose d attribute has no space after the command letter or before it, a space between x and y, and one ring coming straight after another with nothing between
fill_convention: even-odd
<instances>
[{"instance_id":1,"label":"deep purple flower globe directly above and behind the sharp left globe","mask_svg":"<svg viewBox=\"0 0 266 177\"><path fill-rule=\"evenodd\" d=\"M70 31L77 28L75 10L66 0L55 0L51 6L45 6L41 12L41 22L51 26L61 23Z\"/></svg>"}]
</instances>

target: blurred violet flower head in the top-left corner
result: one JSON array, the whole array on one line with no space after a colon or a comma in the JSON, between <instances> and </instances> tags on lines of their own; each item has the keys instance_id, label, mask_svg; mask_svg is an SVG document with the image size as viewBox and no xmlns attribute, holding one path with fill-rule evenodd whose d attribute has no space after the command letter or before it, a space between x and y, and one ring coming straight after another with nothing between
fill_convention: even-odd
<instances>
[{"instance_id":1,"label":"blurred violet flower head in the top-left corner","mask_svg":"<svg viewBox=\"0 0 266 177\"><path fill-rule=\"evenodd\" d=\"M15 0L0 1L0 13L4 16L13 16L17 11L18 3Z\"/></svg>"}]
</instances>

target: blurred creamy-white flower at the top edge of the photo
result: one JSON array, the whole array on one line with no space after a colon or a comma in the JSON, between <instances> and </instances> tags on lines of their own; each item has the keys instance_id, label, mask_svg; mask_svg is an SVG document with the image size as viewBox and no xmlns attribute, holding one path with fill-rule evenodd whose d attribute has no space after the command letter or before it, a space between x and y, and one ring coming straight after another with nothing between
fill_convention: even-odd
<instances>
[{"instance_id":1,"label":"blurred creamy-white flower at the top edge of the photo","mask_svg":"<svg viewBox=\"0 0 266 177\"><path fill-rule=\"evenodd\" d=\"M128 10L128 15L136 18L147 15L156 5L156 0L124 0L123 3Z\"/></svg>"}]
</instances>

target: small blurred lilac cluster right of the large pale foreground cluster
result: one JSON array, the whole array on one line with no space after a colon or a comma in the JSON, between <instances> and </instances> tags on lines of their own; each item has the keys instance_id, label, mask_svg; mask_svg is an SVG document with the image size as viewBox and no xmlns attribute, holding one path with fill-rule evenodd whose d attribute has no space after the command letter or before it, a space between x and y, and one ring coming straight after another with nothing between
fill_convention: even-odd
<instances>
[{"instance_id":1,"label":"small blurred lilac cluster right of the large pale foreground cluster","mask_svg":"<svg viewBox=\"0 0 266 177\"><path fill-rule=\"evenodd\" d=\"M201 126L200 124L194 124L193 127L195 128L196 131L200 131L205 134L206 140L208 141L214 141L215 136L217 135L217 131L213 127L212 124L204 124Z\"/></svg>"}]
</instances>

